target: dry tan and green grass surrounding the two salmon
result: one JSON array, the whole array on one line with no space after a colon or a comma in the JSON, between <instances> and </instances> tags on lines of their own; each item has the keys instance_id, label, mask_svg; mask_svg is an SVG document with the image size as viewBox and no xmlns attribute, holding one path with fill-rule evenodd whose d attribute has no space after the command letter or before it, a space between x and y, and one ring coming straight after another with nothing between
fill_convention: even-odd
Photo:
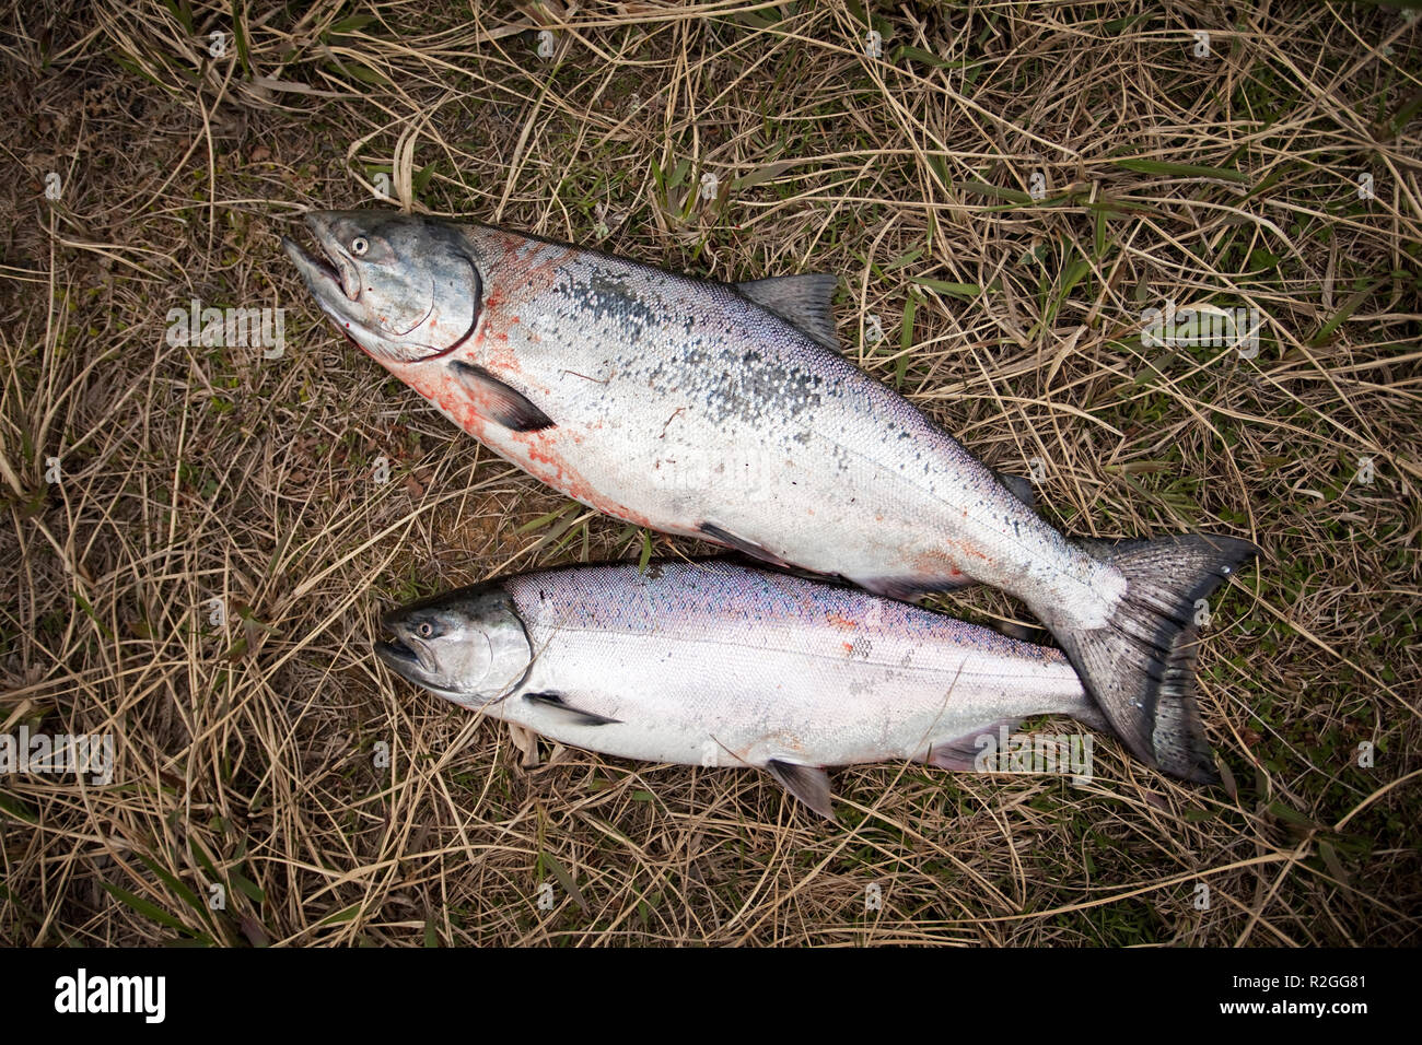
<instances>
[{"instance_id":1,"label":"dry tan and green grass surrounding the two salmon","mask_svg":"<svg viewBox=\"0 0 1422 1045\"><path fill-rule=\"evenodd\" d=\"M111 732L117 769L0 778L0 940L1416 943L1413 21L913 3L877 9L870 58L839 3L317 0L237 4L213 58L232 4L58 6L0 38L0 732ZM1039 459L1068 532L1260 543L1202 665L1231 786L1101 738L1086 788L840 771L833 829L749 772L523 769L392 680L380 607L643 535L320 323L276 235L381 171L435 213L704 276L836 272L852 354L987 461ZM171 347L193 297L286 307L286 355ZM1142 345L1167 300L1257 307L1260 354Z\"/></svg>"}]
</instances>

